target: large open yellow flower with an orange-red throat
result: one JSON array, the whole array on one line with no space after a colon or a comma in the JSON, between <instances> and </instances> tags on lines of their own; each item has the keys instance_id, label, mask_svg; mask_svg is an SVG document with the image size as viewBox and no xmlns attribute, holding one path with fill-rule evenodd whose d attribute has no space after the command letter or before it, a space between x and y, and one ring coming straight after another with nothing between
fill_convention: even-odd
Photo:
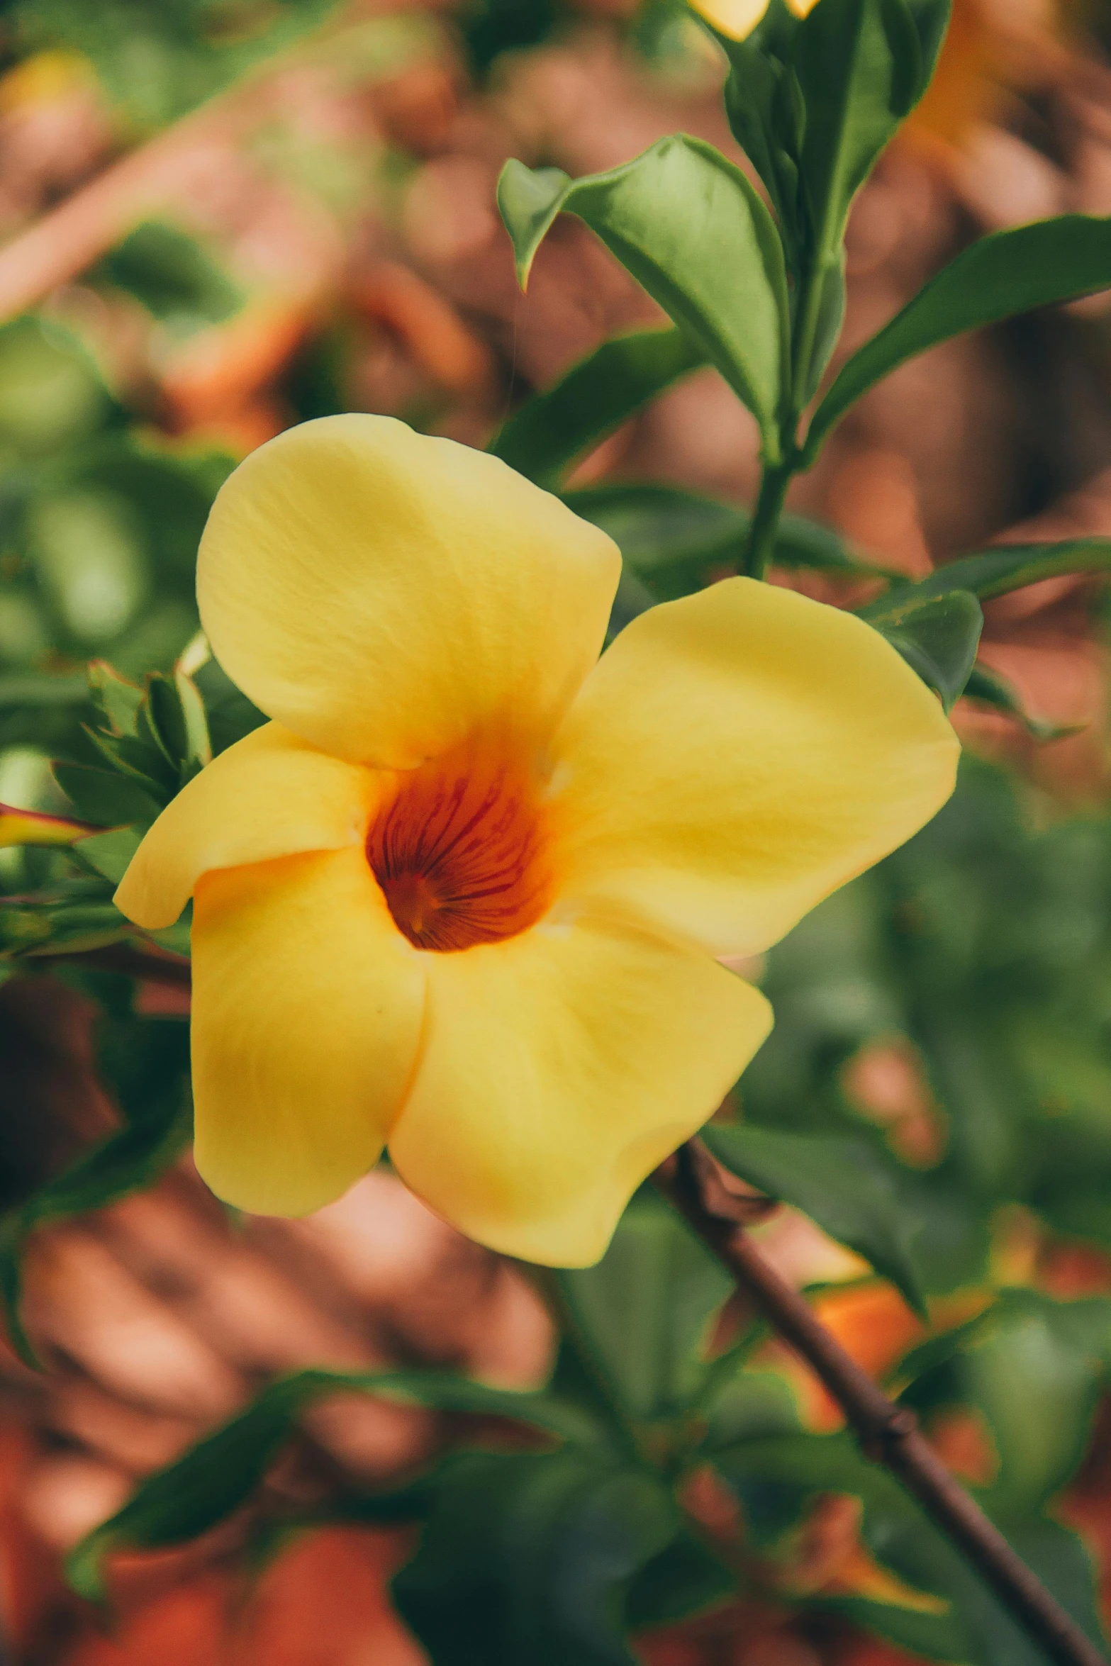
<instances>
[{"instance_id":1,"label":"large open yellow flower with an orange-red throat","mask_svg":"<svg viewBox=\"0 0 1111 1666\"><path fill-rule=\"evenodd\" d=\"M306 1213L388 1145L481 1243L590 1264L770 1030L715 956L948 798L953 730L868 625L731 578L598 660L618 570L546 491L385 416L293 428L220 491L202 620L273 721L117 901L153 930L193 896L222 1198Z\"/></svg>"}]
</instances>

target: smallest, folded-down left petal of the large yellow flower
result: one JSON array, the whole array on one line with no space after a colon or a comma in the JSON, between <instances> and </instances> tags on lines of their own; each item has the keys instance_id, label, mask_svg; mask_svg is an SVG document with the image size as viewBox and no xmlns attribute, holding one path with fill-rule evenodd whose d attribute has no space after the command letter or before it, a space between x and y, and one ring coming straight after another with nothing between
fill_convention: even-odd
<instances>
[{"instance_id":1,"label":"smallest, folded-down left petal of the large yellow flower","mask_svg":"<svg viewBox=\"0 0 1111 1666\"><path fill-rule=\"evenodd\" d=\"M135 925L173 925L202 873L361 845L378 776L265 723L213 758L162 811L115 893Z\"/></svg>"}]
</instances>

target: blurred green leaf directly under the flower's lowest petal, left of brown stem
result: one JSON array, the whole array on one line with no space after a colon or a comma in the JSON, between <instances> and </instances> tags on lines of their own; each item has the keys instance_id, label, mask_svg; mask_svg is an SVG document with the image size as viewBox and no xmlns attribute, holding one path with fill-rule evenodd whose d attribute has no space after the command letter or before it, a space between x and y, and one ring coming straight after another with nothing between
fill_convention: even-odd
<instances>
[{"instance_id":1,"label":"blurred green leaf directly under the flower's lowest petal, left of brown stem","mask_svg":"<svg viewBox=\"0 0 1111 1666\"><path fill-rule=\"evenodd\" d=\"M733 1279L655 1193L633 1200L596 1266L555 1274L571 1324L633 1418L681 1413Z\"/></svg>"}]
</instances>

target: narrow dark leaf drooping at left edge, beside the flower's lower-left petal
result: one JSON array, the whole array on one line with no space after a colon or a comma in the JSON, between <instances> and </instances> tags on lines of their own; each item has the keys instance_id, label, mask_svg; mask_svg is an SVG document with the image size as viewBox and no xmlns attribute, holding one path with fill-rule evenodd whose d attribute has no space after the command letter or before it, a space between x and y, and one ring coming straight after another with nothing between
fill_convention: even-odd
<instances>
[{"instance_id":1,"label":"narrow dark leaf drooping at left edge, beside the flower's lower-left petal","mask_svg":"<svg viewBox=\"0 0 1111 1666\"><path fill-rule=\"evenodd\" d=\"M193 1136L193 1113L180 1081L188 1060L185 1025L162 1025L170 1055L162 1075L180 1083L178 1091L152 1098L145 1115L135 1116L118 1133L78 1158L72 1168L40 1186L22 1208L0 1225L0 1294L3 1296L8 1334L22 1359L38 1366L35 1351L20 1321L22 1256L27 1240L38 1226L68 1220L90 1210L142 1191L178 1160Z\"/></svg>"}]
</instances>

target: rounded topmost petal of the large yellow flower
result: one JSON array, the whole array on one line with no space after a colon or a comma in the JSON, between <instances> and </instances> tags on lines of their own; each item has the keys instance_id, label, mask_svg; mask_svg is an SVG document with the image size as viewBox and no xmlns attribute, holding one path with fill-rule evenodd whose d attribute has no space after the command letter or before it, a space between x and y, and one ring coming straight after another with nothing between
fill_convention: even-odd
<instances>
[{"instance_id":1,"label":"rounded topmost petal of the large yellow flower","mask_svg":"<svg viewBox=\"0 0 1111 1666\"><path fill-rule=\"evenodd\" d=\"M325 416L222 488L197 593L263 711L336 756L411 768L491 725L546 736L598 656L620 565L498 458Z\"/></svg>"}]
</instances>

